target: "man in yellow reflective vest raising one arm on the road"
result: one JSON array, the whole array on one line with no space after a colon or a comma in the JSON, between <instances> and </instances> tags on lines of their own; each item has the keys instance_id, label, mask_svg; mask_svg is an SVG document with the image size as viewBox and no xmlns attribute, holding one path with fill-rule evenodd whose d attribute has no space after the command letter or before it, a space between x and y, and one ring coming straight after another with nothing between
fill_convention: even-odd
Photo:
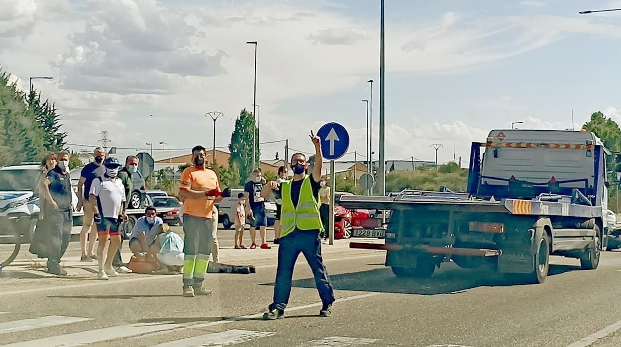
<instances>
[{"instance_id":1,"label":"man in yellow reflective vest raising one arm on the road","mask_svg":"<svg viewBox=\"0 0 621 347\"><path fill-rule=\"evenodd\" d=\"M315 145L315 165L312 174L306 174L308 167L306 155L296 153L291 157L293 179L276 183L271 181L261 191L263 197L270 197L272 191L280 191L283 202L281 210L281 237L278 247L278 268L274 286L274 302L268 307L263 319L272 320L284 317L284 309L291 294L291 277L297 256L300 253L311 266L317 290L323 307L322 317L332 314L334 290L321 256L319 233L324 229L319 217L319 189L321 181L321 142L311 132Z\"/></svg>"}]
</instances>

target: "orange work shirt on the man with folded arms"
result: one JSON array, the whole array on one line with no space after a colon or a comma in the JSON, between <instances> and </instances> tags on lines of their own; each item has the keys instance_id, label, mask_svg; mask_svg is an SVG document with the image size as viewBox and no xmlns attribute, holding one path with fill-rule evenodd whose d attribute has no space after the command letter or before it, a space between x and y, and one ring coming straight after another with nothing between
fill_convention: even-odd
<instances>
[{"instance_id":1,"label":"orange work shirt on the man with folded arms","mask_svg":"<svg viewBox=\"0 0 621 347\"><path fill-rule=\"evenodd\" d=\"M220 189L218 176L212 169L189 167L181 173L181 183L189 183L190 189L196 191L211 191ZM213 200L185 199L183 201L183 214L198 218L211 219L214 210Z\"/></svg>"}]
</instances>

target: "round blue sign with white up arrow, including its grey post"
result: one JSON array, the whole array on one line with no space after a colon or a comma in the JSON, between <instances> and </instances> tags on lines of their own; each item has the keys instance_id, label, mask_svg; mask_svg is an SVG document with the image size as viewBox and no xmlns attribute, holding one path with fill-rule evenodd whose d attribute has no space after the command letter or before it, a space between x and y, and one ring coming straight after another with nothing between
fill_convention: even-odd
<instances>
[{"instance_id":1,"label":"round blue sign with white up arrow, including its grey post","mask_svg":"<svg viewBox=\"0 0 621 347\"><path fill-rule=\"evenodd\" d=\"M324 124L317 131L317 136L321 139L321 155L330 160L330 221L329 236L330 245L334 244L334 189L336 186L336 176L334 172L334 161L347 153L349 148L349 133L347 129L338 123Z\"/></svg>"}]
</instances>

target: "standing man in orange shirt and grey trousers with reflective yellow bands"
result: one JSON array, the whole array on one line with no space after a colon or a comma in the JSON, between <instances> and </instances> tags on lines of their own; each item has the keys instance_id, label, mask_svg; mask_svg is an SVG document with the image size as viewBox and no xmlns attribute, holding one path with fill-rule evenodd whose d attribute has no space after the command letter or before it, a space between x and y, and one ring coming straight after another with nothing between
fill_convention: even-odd
<instances>
[{"instance_id":1,"label":"standing man in orange shirt and grey trousers with reflective yellow bands","mask_svg":"<svg viewBox=\"0 0 621 347\"><path fill-rule=\"evenodd\" d=\"M205 148L192 148L193 166L181 173L179 197L183 201L183 296L211 295L202 287L211 253L214 202L222 200L217 174L207 168Z\"/></svg>"}]
</instances>

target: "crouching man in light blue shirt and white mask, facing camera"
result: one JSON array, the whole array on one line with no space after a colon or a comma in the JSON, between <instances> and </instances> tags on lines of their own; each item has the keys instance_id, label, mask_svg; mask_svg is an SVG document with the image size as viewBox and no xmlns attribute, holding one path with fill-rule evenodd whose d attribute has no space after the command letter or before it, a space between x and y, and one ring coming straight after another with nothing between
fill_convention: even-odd
<instances>
[{"instance_id":1,"label":"crouching man in light blue shirt and white mask, facing camera","mask_svg":"<svg viewBox=\"0 0 621 347\"><path fill-rule=\"evenodd\" d=\"M138 218L132 230L132 236L129 239L129 248L132 253L138 259L145 258L143 253L155 258L155 254L158 253L160 248L154 245L160 228L158 225L163 224L164 221L157 217L157 210L153 206L147 206L145 209L145 215Z\"/></svg>"}]
</instances>

